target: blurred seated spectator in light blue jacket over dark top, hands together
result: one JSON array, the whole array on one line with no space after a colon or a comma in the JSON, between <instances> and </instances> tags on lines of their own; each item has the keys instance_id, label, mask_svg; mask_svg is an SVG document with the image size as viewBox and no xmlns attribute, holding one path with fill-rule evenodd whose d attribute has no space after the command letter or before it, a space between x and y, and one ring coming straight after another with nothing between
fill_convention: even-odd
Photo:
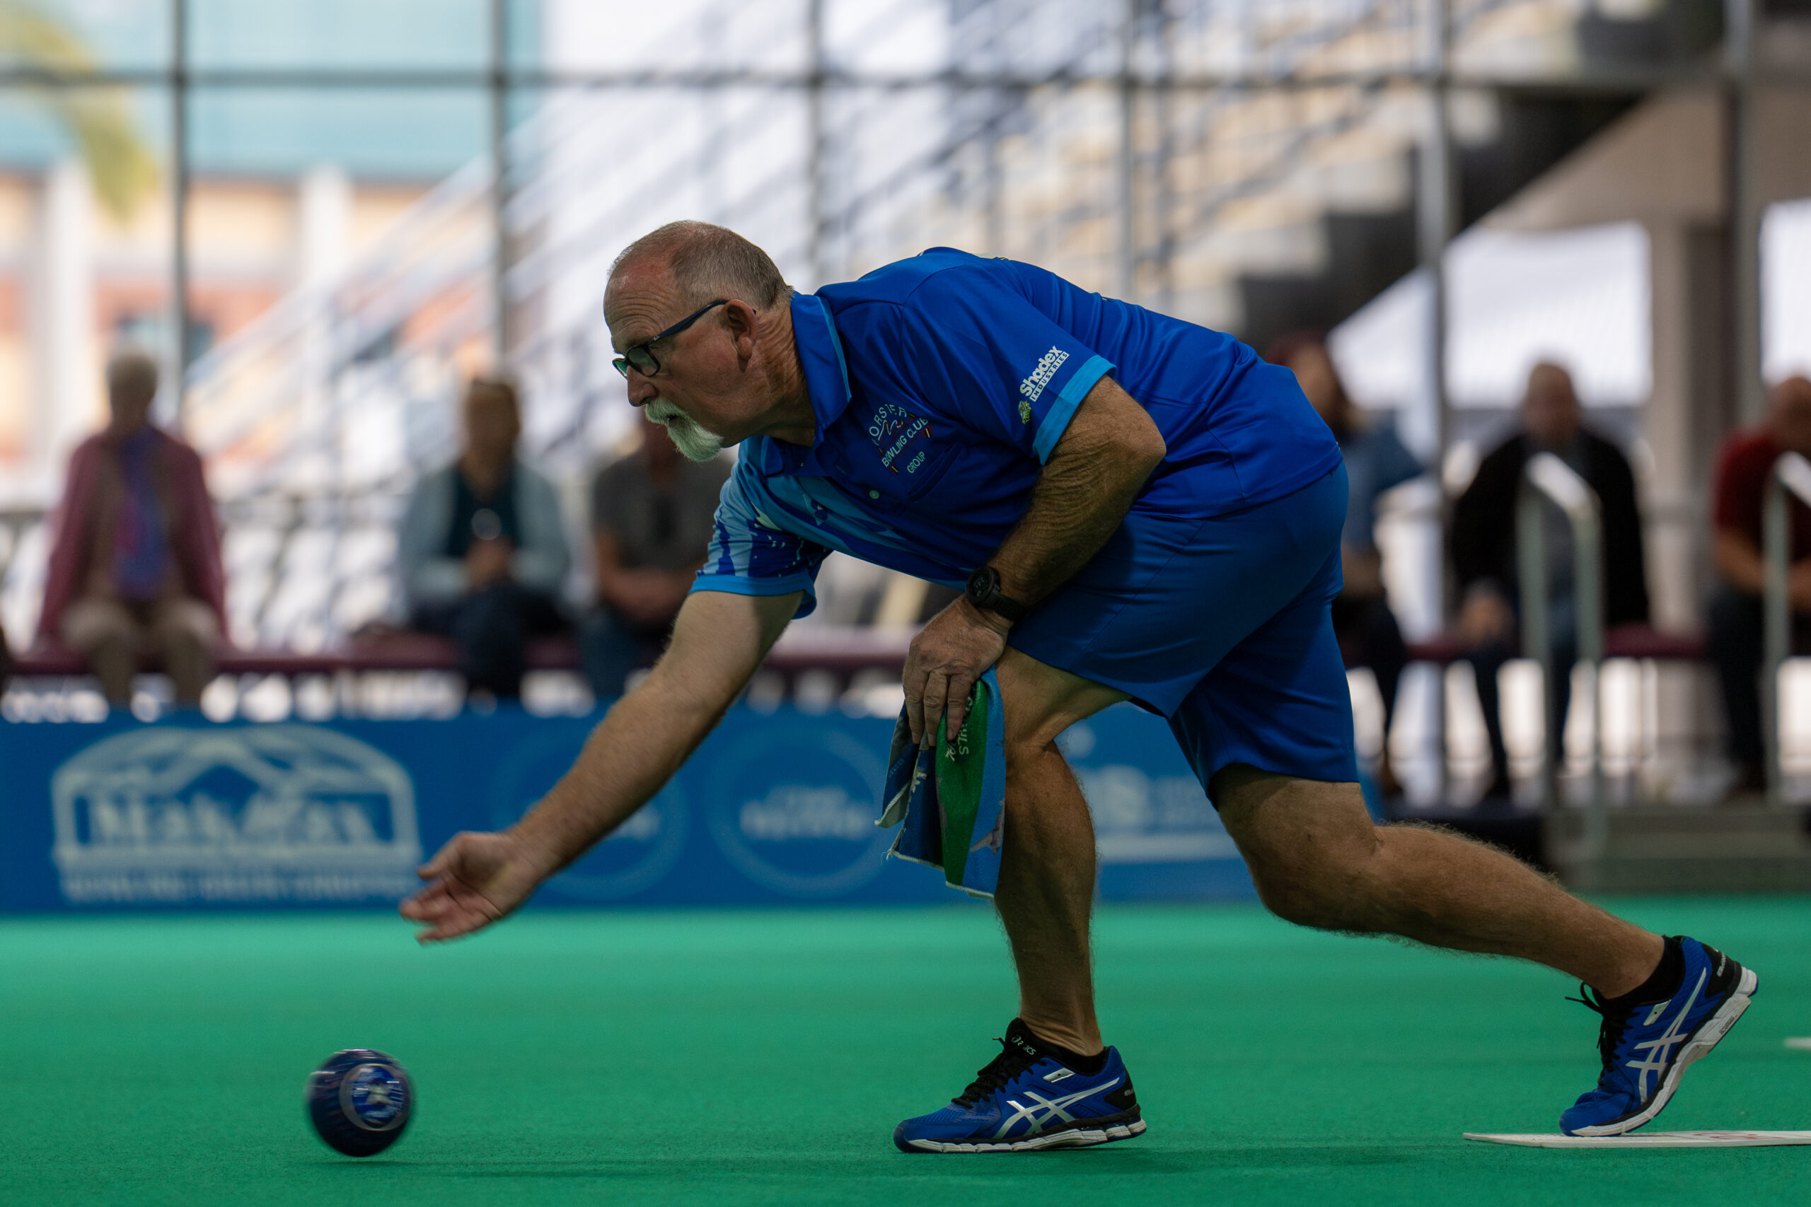
<instances>
[{"instance_id":1,"label":"blurred seated spectator in light blue jacket over dark top, hands together","mask_svg":"<svg viewBox=\"0 0 1811 1207\"><path fill-rule=\"evenodd\" d=\"M467 691L522 695L531 637L565 628L572 565L554 485L516 456L514 385L465 391L465 449L415 485L398 557L413 628L451 637Z\"/></svg>"}]
</instances>

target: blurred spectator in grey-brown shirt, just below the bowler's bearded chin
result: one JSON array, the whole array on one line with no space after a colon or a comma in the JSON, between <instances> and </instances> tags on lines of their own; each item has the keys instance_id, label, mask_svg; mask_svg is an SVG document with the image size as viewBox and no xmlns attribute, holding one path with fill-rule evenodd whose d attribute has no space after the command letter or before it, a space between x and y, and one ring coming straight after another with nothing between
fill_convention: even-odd
<instances>
[{"instance_id":1,"label":"blurred spectator in grey-brown shirt, just below the bowler's bearded chin","mask_svg":"<svg viewBox=\"0 0 1811 1207\"><path fill-rule=\"evenodd\" d=\"M666 429L643 416L641 449L605 465L590 487L598 606L585 617L585 675L598 699L661 651L710 546L717 494L732 461L688 461Z\"/></svg>"}]
</instances>

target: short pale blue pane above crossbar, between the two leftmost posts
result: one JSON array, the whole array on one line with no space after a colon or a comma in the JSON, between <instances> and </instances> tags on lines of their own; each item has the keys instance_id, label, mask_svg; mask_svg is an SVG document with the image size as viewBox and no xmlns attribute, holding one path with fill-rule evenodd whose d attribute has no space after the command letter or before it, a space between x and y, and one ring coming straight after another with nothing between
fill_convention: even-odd
<instances>
[{"instance_id":1,"label":"short pale blue pane above crossbar, between the two leftmost posts","mask_svg":"<svg viewBox=\"0 0 1811 1207\"><path fill-rule=\"evenodd\" d=\"M487 0L190 0L197 69L484 69Z\"/></svg>"}]
</instances>

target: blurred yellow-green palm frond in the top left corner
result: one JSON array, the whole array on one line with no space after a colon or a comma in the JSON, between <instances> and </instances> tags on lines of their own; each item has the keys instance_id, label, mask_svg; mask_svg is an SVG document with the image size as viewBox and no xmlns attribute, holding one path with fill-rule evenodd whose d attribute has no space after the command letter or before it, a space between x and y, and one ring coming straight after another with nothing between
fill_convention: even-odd
<instances>
[{"instance_id":1,"label":"blurred yellow-green palm frond in the top left corner","mask_svg":"<svg viewBox=\"0 0 1811 1207\"><path fill-rule=\"evenodd\" d=\"M0 0L0 62L47 76L94 71L94 54L63 22L34 4ZM94 194L116 219L132 217L158 183L158 163L127 107L121 89L40 87L34 90L81 148Z\"/></svg>"}]
</instances>

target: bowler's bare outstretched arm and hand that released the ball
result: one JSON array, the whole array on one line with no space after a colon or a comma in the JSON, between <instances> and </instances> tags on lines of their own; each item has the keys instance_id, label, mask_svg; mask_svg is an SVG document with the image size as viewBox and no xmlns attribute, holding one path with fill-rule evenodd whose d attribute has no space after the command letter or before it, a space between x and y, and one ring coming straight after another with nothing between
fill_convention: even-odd
<instances>
[{"instance_id":1,"label":"bowler's bare outstretched arm and hand that released the ball","mask_svg":"<svg viewBox=\"0 0 1811 1207\"><path fill-rule=\"evenodd\" d=\"M572 769L520 822L455 834L402 903L422 943L455 939L513 912L536 887L645 805L697 749L799 610L790 595L695 592L674 641L610 709Z\"/></svg>"}]
</instances>

